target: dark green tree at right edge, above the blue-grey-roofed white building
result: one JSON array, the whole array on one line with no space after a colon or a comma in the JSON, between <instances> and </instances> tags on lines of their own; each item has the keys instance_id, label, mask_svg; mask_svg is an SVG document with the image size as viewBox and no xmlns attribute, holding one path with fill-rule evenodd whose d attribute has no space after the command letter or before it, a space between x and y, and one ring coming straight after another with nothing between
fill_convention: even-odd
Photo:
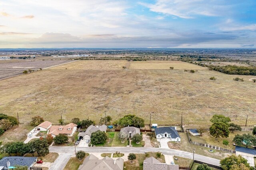
<instances>
[{"instance_id":1,"label":"dark green tree at right edge, above the blue-grey-roofed white building","mask_svg":"<svg viewBox=\"0 0 256 170\"><path fill-rule=\"evenodd\" d=\"M236 134L236 136L233 139L233 142L235 142L238 145L244 145L246 148L248 146L256 146L256 136L253 136L251 134Z\"/></svg>"}]
</instances>

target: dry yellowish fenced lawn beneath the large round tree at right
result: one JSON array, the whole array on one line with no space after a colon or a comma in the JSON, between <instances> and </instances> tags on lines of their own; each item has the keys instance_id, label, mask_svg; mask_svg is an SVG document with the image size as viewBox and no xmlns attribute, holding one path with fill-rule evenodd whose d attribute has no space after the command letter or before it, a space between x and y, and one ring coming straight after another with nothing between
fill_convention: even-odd
<instances>
[{"instance_id":1,"label":"dry yellowish fenced lawn beneath the large round tree at right","mask_svg":"<svg viewBox=\"0 0 256 170\"><path fill-rule=\"evenodd\" d=\"M234 143L234 142L232 142L233 138L235 137L236 134L244 134L244 133L252 134L251 131L234 131L234 133L230 132L228 138L218 138L218 140L215 140L214 137L212 137L210 135L210 132L206 132L206 133L203 133L202 136L192 136L192 135L190 135L190 138L194 142L200 142L200 143L203 143L203 144L211 144L211 145L214 145L214 146L220 146L222 148L225 148L224 144L222 144L222 141L223 140L228 140L229 144L226 146L226 148L234 150L235 146L232 145Z\"/></svg>"}]
</instances>

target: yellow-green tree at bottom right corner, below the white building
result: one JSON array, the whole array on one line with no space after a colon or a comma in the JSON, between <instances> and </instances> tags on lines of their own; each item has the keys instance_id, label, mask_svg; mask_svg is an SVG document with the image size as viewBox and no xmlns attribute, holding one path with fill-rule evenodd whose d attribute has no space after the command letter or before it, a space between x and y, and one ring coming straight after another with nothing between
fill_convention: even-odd
<instances>
[{"instance_id":1,"label":"yellow-green tree at bottom right corner, below the white building","mask_svg":"<svg viewBox=\"0 0 256 170\"><path fill-rule=\"evenodd\" d=\"M220 160L220 166L223 170L232 170L233 165L244 164L246 167L250 168L247 159L243 158L241 155L231 155L222 160Z\"/></svg>"}]
</instances>

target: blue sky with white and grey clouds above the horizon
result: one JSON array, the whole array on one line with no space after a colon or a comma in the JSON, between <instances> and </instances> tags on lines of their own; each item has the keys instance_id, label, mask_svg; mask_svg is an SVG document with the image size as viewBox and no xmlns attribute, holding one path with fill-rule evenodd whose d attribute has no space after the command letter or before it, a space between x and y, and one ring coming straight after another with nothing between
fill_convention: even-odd
<instances>
[{"instance_id":1,"label":"blue sky with white and grey clouds above the horizon","mask_svg":"<svg viewBox=\"0 0 256 170\"><path fill-rule=\"evenodd\" d=\"M0 0L17 47L256 47L256 0Z\"/></svg>"}]
</instances>

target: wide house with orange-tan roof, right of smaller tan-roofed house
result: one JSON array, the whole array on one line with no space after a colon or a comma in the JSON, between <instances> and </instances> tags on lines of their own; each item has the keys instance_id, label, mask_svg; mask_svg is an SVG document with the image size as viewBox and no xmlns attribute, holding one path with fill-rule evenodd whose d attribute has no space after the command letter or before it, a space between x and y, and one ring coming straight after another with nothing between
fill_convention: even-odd
<instances>
[{"instance_id":1,"label":"wide house with orange-tan roof, right of smaller tan-roofed house","mask_svg":"<svg viewBox=\"0 0 256 170\"><path fill-rule=\"evenodd\" d=\"M55 137L58 134L65 134L67 136L73 136L74 132L76 132L77 125L74 123L70 123L65 126L51 126L49 134Z\"/></svg>"}]
</instances>

